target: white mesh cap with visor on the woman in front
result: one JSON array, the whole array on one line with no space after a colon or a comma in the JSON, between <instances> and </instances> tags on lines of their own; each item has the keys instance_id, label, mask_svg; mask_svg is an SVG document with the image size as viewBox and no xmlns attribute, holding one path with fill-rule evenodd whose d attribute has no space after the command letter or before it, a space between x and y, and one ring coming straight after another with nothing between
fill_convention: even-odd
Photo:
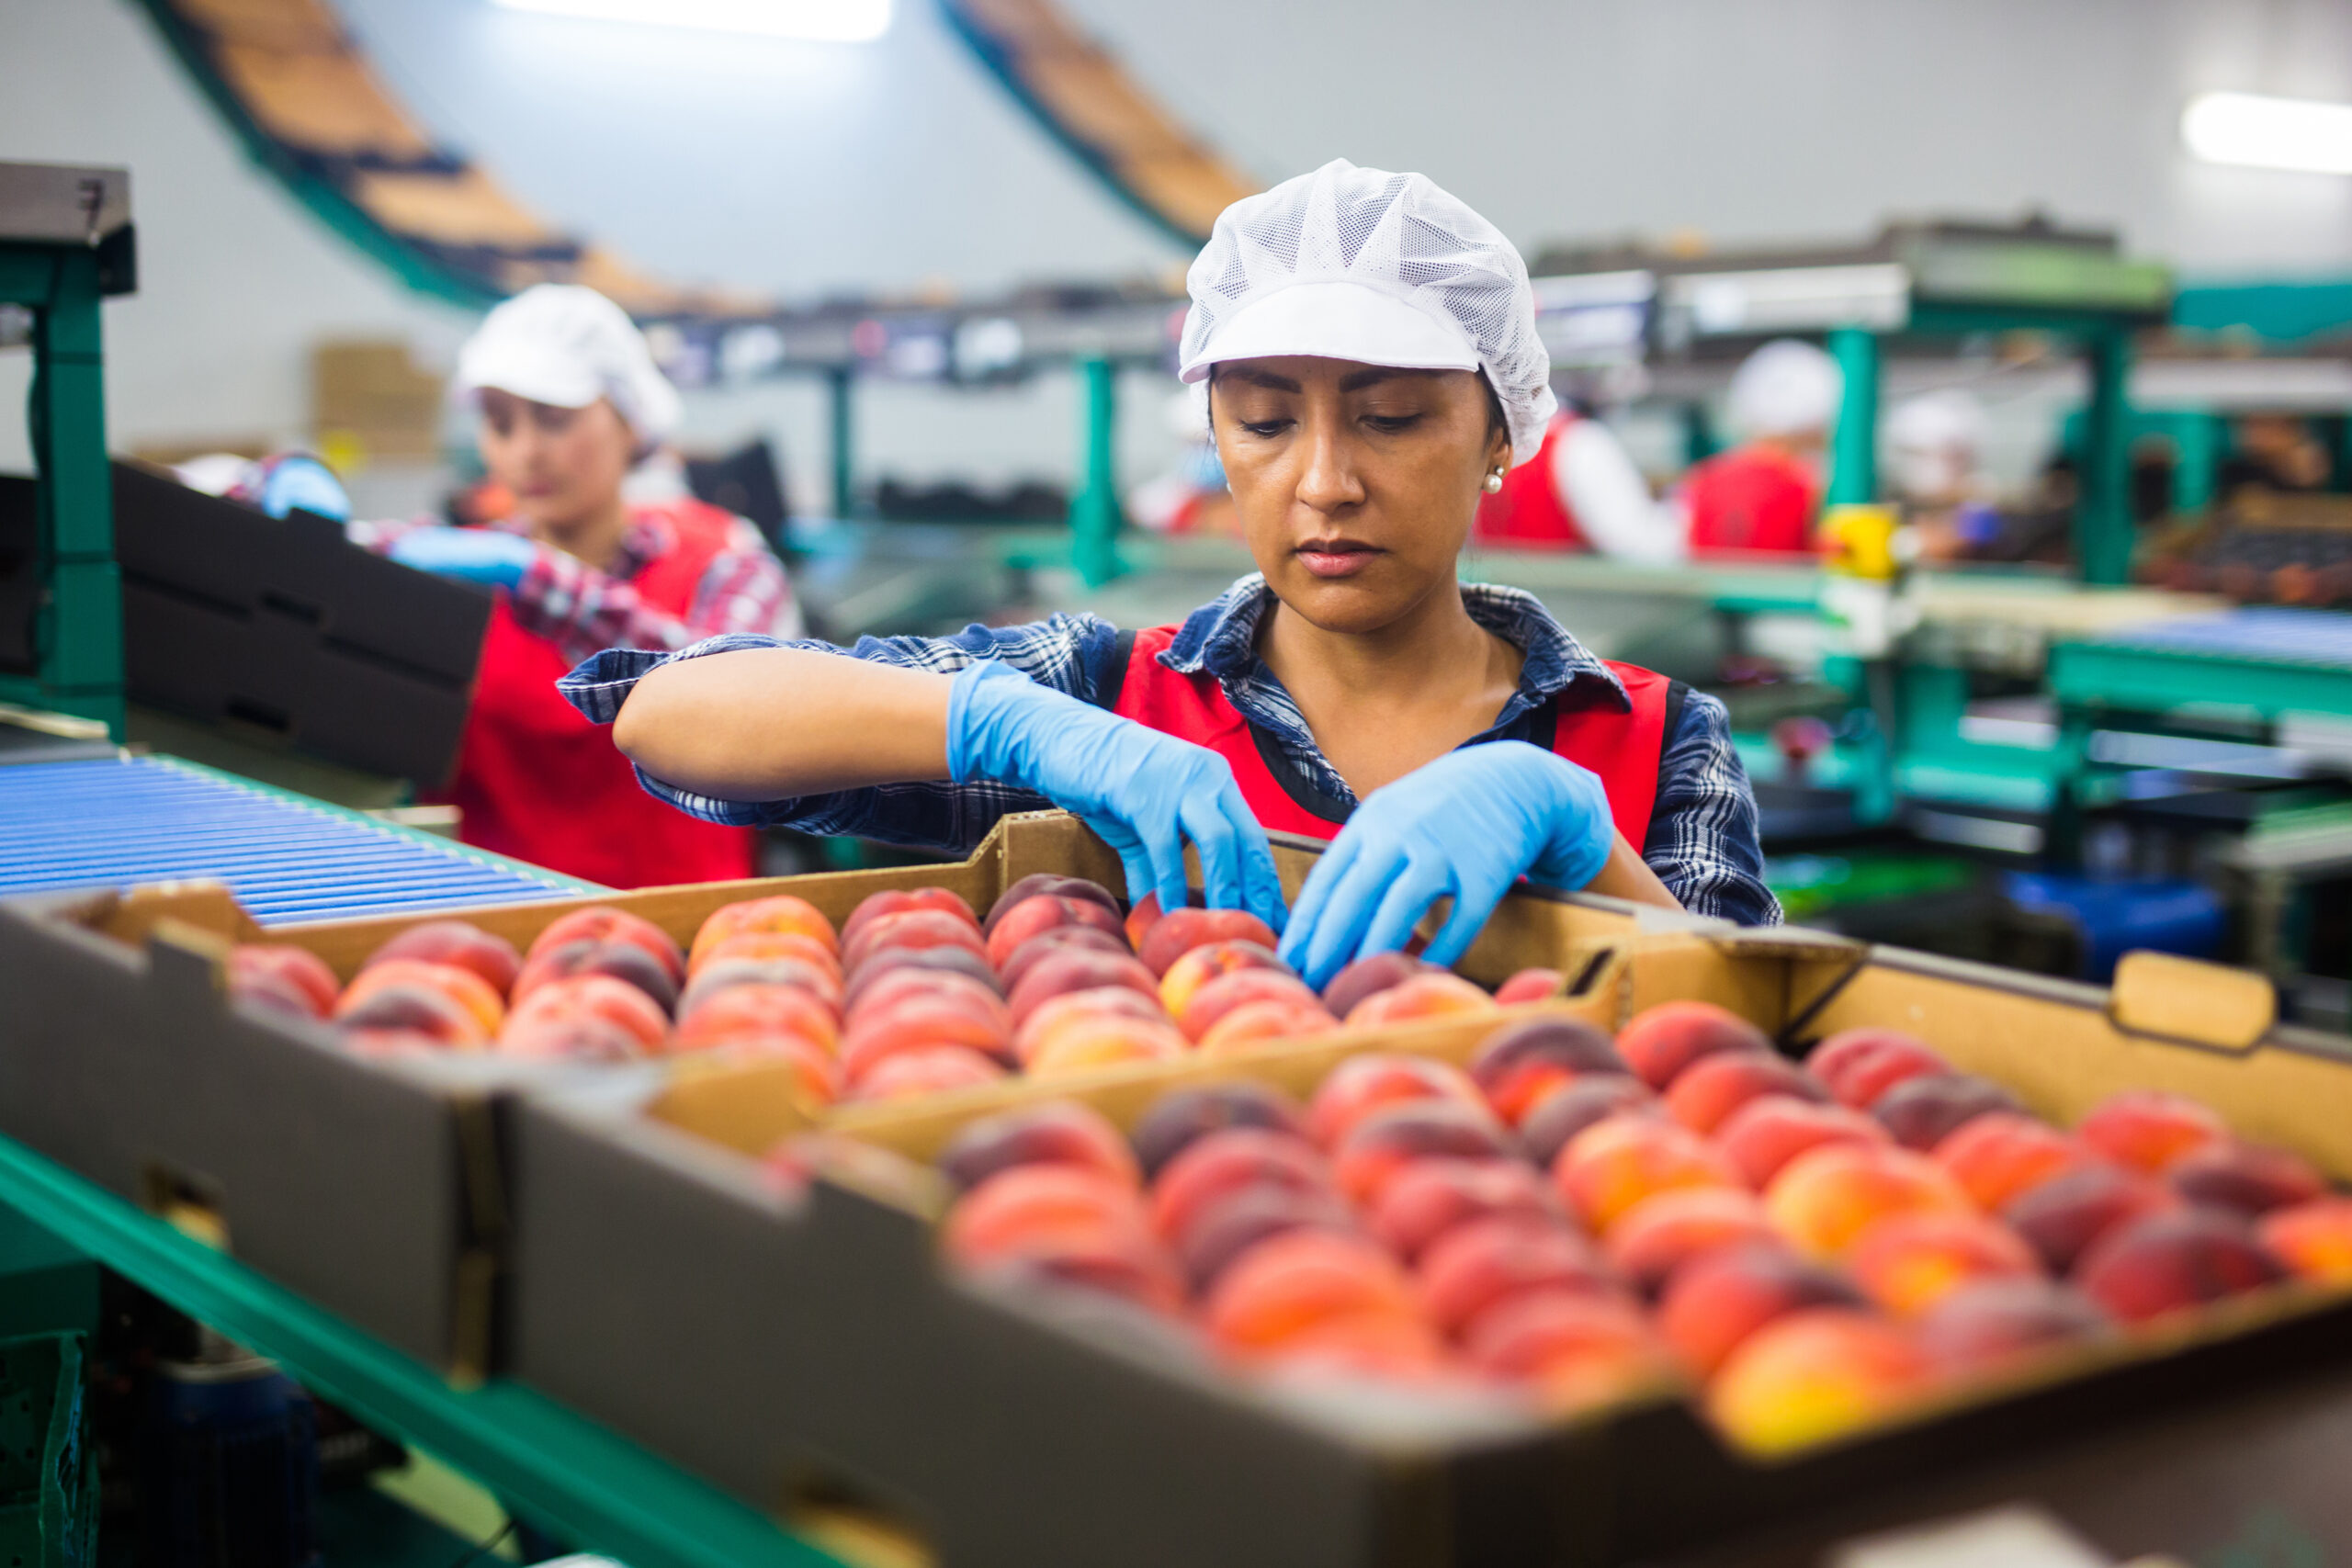
<instances>
[{"instance_id":1,"label":"white mesh cap with visor on the woman in front","mask_svg":"<svg viewBox=\"0 0 2352 1568\"><path fill-rule=\"evenodd\" d=\"M1536 456L1557 411L1526 263L1425 174L1334 158L1247 195L1216 216L1185 287L1185 381L1270 355L1484 369L1515 465Z\"/></svg>"}]
</instances>

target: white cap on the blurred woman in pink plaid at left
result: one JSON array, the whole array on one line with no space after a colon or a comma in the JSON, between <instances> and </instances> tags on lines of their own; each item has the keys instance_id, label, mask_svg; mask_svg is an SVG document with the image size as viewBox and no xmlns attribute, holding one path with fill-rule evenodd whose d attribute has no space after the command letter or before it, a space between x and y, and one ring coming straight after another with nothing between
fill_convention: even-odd
<instances>
[{"instance_id":1,"label":"white cap on the blurred woman in pink plaid at left","mask_svg":"<svg viewBox=\"0 0 2352 1568\"><path fill-rule=\"evenodd\" d=\"M628 313L569 282L532 284L482 317L456 355L449 390L473 400L487 388L557 409L612 397L647 447L677 430L684 414Z\"/></svg>"}]
</instances>

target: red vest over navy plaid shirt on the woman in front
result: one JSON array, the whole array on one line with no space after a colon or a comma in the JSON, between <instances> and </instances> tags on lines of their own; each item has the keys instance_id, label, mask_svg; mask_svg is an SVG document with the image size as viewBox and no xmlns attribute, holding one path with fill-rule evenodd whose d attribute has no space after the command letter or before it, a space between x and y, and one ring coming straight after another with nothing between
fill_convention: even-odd
<instances>
[{"instance_id":1,"label":"red vest over navy plaid shirt on the woman in front","mask_svg":"<svg viewBox=\"0 0 2352 1568\"><path fill-rule=\"evenodd\" d=\"M1174 625L1136 632L1127 656L1127 679L1112 712L1178 741L1207 745L1232 769L1242 799L1268 832L1298 832L1312 839L1338 835L1345 818L1341 802L1322 802L1298 778L1277 778L1275 762L1261 750L1249 719L1225 698L1214 675L1178 675L1160 663L1176 639ZM1682 708L1682 689L1663 675L1637 665L1609 663L1632 698L1632 712L1616 708L1559 710L1545 705L1552 722L1552 750L1602 776L1609 792L1609 816L1637 851L1649 837L1649 811L1658 799L1658 757L1672 712ZM1541 743L1541 729L1538 729ZM1289 773L1289 766L1284 766Z\"/></svg>"}]
</instances>

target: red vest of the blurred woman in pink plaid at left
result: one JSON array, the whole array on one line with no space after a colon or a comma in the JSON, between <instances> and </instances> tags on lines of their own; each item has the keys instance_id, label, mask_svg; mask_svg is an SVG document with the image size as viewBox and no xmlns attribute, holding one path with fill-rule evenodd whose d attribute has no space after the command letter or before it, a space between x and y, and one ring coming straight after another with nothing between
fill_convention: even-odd
<instances>
[{"instance_id":1,"label":"red vest of the blurred woman in pink plaid at left","mask_svg":"<svg viewBox=\"0 0 2352 1568\"><path fill-rule=\"evenodd\" d=\"M727 548L731 517L701 501L661 508L675 543L630 585L673 616L694 607L703 571ZM557 646L515 623L506 595L482 637L473 710L442 799L459 837L515 860L604 886L722 882L753 875L750 827L720 827L659 802L612 745L555 691L572 670Z\"/></svg>"}]
</instances>

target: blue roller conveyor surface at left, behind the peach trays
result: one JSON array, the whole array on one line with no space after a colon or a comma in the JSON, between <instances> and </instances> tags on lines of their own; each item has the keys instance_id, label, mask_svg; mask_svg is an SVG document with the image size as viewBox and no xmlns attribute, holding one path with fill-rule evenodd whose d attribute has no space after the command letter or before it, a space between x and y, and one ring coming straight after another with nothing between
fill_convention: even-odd
<instances>
[{"instance_id":1,"label":"blue roller conveyor surface at left, behind the peach trays","mask_svg":"<svg viewBox=\"0 0 2352 1568\"><path fill-rule=\"evenodd\" d=\"M261 924L586 886L167 757L0 769L0 896L191 879L226 882Z\"/></svg>"}]
</instances>

